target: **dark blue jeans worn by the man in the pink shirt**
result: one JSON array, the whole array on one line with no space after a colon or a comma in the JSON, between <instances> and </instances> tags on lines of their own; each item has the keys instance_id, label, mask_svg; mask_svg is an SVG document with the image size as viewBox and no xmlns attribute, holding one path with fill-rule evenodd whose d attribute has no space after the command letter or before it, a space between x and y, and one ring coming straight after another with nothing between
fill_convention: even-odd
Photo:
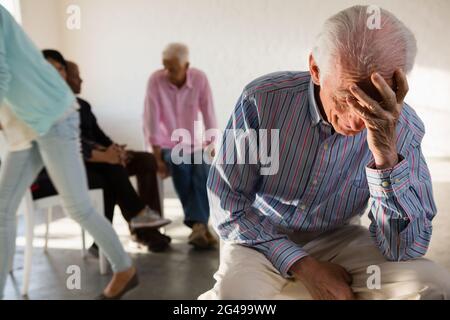
<instances>
[{"instance_id":1,"label":"dark blue jeans worn by the man in the pink shirt","mask_svg":"<svg viewBox=\"0 0 450 320\"><path fill-rule=\"evenodd\" d=\"M171 159L172 150L163 149L162 156L172 175L173 184L184 211L184 223L192 227L194 223L207 224L209 220L209 203L206 180L210 165L206 163L175 164ZM198 151L198 152L201 152Z\"/></svg>"}]
</instances>

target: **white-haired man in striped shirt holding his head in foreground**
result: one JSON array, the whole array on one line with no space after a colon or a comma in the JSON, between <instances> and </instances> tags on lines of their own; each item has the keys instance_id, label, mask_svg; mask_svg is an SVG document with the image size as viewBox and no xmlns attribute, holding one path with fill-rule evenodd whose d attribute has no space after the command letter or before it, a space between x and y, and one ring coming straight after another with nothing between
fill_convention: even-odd
<instances>
[{"instance_id":1,"label":"white-haired man in striped shirt holding his head in foreground","mask_svg":"<svg viewBox=\"0 0 450 320\"><path fill-rule=\"evenodd\" d=\"M309 73L245 88L228 129L278 130L279 170L262 175L260 162L228 164L233 148L219 151L208 190L224 243L200 299L449 297L449 274L421 258L436 208L424 126L403 102L415 38L385 10L369 28L366 12L325 23ZM366 229L351 220L368 203Z\"/></svg>"}]
</instances>

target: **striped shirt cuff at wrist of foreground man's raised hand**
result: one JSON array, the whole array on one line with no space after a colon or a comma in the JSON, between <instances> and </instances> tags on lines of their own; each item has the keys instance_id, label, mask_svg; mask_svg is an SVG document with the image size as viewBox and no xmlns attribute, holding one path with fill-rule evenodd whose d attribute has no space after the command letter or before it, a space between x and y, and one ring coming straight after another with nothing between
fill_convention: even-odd
<instances>
[{"instance_id":1,"label":"striped shirt cuff at wrist of foreground man's raised hand","mask_svg":"<svg viewBox=\"0 0 450 320\"><path fill-rule=\"evenodd\" d=\"M398 164L389 169L376 169L374 161L367 165L366 176L372 197L398 197L409 189L409 164L403 157L400 159Z\"/></svg>"}]
</instances>

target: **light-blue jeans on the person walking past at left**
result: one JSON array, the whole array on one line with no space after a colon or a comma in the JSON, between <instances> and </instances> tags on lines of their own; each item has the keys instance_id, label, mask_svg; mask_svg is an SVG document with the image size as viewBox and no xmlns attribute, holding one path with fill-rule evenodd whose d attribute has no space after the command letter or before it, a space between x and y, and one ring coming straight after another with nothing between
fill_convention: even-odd
<instances>
[{"instance_id":1,"label":"light-blue jeans on the person walking past at left","mask_svg":"<svg viewBox=\"0 0 450 320\"><path fill-rule=\"evenodd\" d=\"M86 171L80 153L79 114L74 111L33 142L30 149L11 152L0 167L0 298L14 256L16 211L27 188L45 166L64 208L89 232L105 253L114 272L131 267L111 223L95 212L88 193Z\"/></svg>"}]
</instances>

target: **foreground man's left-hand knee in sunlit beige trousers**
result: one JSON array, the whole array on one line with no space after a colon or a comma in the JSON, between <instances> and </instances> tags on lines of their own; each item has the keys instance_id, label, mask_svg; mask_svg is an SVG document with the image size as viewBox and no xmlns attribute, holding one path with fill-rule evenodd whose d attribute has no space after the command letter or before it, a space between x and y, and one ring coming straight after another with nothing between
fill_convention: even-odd
<instances>
[{"instance_id":1,"label":"foreground man's left-hand knee in sunlit beige trousers","mask_svg":"<svg viewBox=\"0 0 450 320\"><path fill-rule=\"evenodd\" d=\"M214 287L199 300L271 300L288 283L260 252L223 243Z\"/></svg>"}]
</instances>

